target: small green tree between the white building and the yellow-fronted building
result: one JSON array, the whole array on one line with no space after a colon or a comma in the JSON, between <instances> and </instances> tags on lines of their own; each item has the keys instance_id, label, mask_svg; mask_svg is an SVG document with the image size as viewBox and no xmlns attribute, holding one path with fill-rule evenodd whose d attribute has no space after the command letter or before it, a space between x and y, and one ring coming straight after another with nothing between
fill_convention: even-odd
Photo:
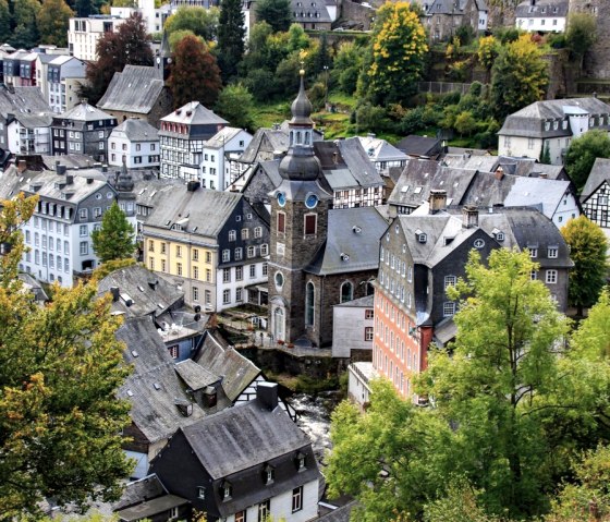
<instances>
[{"instance_id":1,"label":"small green tree between the white building and the yellow-fronted building","mask_svg":"<svg viewBox=\"0 0 610 522\"><path fill-rule=\"evenodd\" d=\"M134 227L117 202L106 211L101 228L91 232L94 252L101 263L132 257L135 251Z\"/></svg>"}]
</instances>

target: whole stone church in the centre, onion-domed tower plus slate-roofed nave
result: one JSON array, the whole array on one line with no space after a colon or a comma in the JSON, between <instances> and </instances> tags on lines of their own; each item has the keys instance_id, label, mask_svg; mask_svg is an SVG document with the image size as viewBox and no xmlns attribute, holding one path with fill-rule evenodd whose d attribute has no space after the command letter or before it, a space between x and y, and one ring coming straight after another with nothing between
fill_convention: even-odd
<instances>
[{"instance_id":1,"label":"whole stone church in the centre, onion-domed tower plus slate-roofed nave","mask_svg":"<svg viewBox=\"0 0 610 522\"><path fill-rule=\"evenodd\" d=\"M281 181L269 194L269 324L276 340L324 347L332 342L332 306L370 293L387 223L374 207L330 210L310 113L302 76Z\"/></svg>"}]
</instances>

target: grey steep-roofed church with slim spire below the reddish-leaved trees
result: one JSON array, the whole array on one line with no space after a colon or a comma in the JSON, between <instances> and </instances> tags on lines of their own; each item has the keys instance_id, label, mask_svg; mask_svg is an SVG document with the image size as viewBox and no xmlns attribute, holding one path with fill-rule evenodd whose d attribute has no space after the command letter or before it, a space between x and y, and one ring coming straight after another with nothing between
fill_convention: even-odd
<instances>
[{"instance_id":1,"label":"grey steep-roofed church with slim spire below the reddish-leaved trees","mask_svg":"<svg viewBox=\"0 0 610 522\"><path fill-rule=\"evenodd\" d=\"M97 107L124 121L139 118L159 128L161 118L172 110L173 100L166 81L169 77L171 50L163 33L155 66L125 65L115 72Z\"/></svg>"}]
</instances>

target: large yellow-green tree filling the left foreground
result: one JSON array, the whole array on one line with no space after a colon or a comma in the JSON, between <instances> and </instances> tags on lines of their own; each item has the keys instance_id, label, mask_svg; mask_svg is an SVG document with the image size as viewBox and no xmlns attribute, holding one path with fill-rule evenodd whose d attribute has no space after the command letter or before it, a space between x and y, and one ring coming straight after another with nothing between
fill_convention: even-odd
<instances>
[{"instance_id":1,"label":"large yellow-green tree filling the left foreground","mask_svg":"<svg viewBox=\"0 0 610 522\"><path fill-rule=\"evenodd\" d=\"M120 319L95 282L54 286L37 306L17 279L21 226L37 197L2 202L0 242L0 512L40 518L39 502L118 499L131 463L121 449L129 403L115 398L130 369Z\"/></svg>"}]
</instances>

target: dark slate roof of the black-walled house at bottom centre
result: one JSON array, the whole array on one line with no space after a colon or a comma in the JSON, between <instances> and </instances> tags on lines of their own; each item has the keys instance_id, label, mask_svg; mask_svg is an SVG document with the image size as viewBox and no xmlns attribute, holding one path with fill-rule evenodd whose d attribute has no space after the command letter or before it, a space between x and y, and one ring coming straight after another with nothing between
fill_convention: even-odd
<instances>
[{"instance_id":1,"label":"dark slate roof of the black-walled house at bottom centre","mask_svg":"<svg viewBox=\"0 0 610 522\"><path fill-rule=\"evenodd\" d=\"M209 415L182 432L212 479L310 446L281 408L269 411L258 400Z\"/></svg>"}]
</instances>

